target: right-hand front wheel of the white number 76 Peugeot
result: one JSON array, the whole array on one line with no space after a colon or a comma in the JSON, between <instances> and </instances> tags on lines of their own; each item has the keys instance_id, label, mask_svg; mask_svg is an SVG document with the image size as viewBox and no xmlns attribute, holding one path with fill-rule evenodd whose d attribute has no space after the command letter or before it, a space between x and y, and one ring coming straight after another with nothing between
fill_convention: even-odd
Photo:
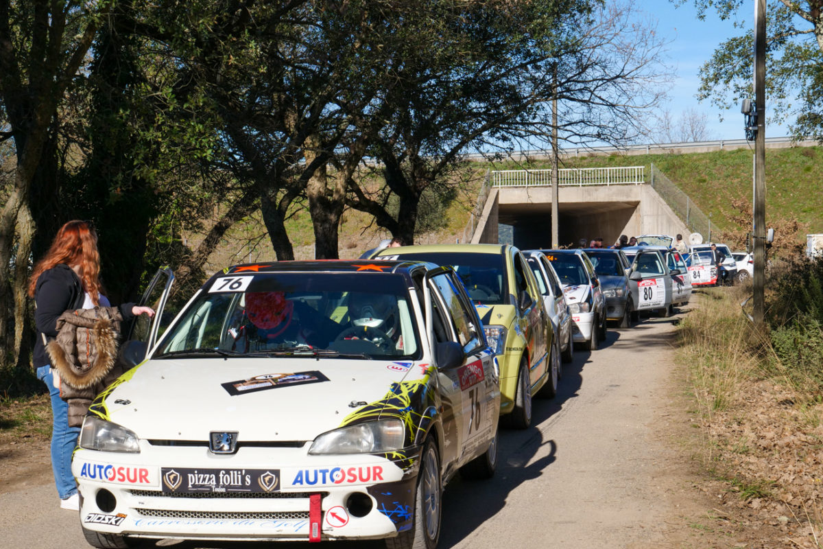
<instances>
[{"instance_id":1,"label":"right-hand front wheel of the white number 76 Peugeot","mask_svg":"<svg viewBox=\"0 0 823 549\"><path fill-rule=\"evenodd\" d=\"M387 549L435 549L443 519L443 482L440 459L431 439L426 440L417 472L414 523L398 537L386 539Z\"/></svg>"}]
</instances>

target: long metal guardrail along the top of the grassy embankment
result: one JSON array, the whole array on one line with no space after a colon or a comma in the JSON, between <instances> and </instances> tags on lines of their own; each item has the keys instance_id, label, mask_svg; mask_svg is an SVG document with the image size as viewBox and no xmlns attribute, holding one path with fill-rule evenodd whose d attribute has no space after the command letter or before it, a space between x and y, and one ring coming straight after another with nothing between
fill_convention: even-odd
<instances>
[{"instance_id":1,"label":"long metal guardrail along the top of the grassy embankment","mask_svg":"<svg viewBox=\"0 0 823 549\"><path fill-rule=\"evenodd\" d=\"M818 143L814 140L794 142L792 137L766 137L766 148L787 147L797 145L798 147L814 147ZM697 150L717 150L739 149L741 147L754 147L753 143L746 139L716 139L714 141L681 142L681 143L649 143L646 145L625 145L623 147L567 147L560 148L560 156L586 156L586 155L607 155L613 153L623 153L628 155L652 154L655 152L672 151L697 151ZM530 151L513 151L509 154L512 158L529 158L542 160L551 158L551 148L533 149ZM466 160L481 161L487 155L481 152L472 152L464 156Z\"/></svg>"}]
</instances>

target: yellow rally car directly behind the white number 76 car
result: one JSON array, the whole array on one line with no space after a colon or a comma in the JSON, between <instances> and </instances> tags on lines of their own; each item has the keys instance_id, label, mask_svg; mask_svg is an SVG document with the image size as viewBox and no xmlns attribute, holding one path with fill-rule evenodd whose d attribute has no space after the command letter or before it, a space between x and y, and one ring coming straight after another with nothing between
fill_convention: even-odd
<instances>
[{"instance_id":1,"label":"yellow rally car directly behind the white number 76 car","mask_svg":"<svg viewBox=\"0 0 823 549\"><path fill-rule=\"evenodd\" d=\"M520 250L508 244L402 246L382 249L374 258L416 259L458 272L500 363L500 414L511 426L528 427L532 396L551 398L557 392L560 349Z\"/></svg>"}]
</instances>

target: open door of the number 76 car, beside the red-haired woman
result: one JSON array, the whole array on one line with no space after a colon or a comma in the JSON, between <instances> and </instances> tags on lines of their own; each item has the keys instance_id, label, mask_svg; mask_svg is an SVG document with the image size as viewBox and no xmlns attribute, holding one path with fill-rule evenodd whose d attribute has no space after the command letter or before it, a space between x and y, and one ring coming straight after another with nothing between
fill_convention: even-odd
<instances>
[{"instance_id":1,"label":"open door of the number 76 car, beside the red-haired woman","mask_svg":"<svg viewBox=\"0 0 823 549\"><path fill-rule=\"evenodd\" d=\"M123 342L123 360L129 365L137 365L146 360L148 351L154 347L174 318L172 314L164 314L173 283L174 272L168 267L161 267L143 292L138 305L151 307L155 315L150 319L148 315L141 314L133 320L128 337Z\"/></svg>"}]
</instances>

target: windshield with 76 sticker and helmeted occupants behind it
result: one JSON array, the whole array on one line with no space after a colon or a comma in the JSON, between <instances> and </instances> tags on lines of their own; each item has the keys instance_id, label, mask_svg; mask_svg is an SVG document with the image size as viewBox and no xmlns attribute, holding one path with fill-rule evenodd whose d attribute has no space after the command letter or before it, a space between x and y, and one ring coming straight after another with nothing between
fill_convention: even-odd
<instances>
[{"instance_id":1,"label":"windshield with 76 sticker and helmeted occupants behind it","mask_svg":"<svg viewBox=\"0 0 823 549\"><path fill-rule=\"evenodd\" d=\"M420 357L401 275L251 272L203 286L154 358L193 356Z\"/></svg>"}]
</instances>

